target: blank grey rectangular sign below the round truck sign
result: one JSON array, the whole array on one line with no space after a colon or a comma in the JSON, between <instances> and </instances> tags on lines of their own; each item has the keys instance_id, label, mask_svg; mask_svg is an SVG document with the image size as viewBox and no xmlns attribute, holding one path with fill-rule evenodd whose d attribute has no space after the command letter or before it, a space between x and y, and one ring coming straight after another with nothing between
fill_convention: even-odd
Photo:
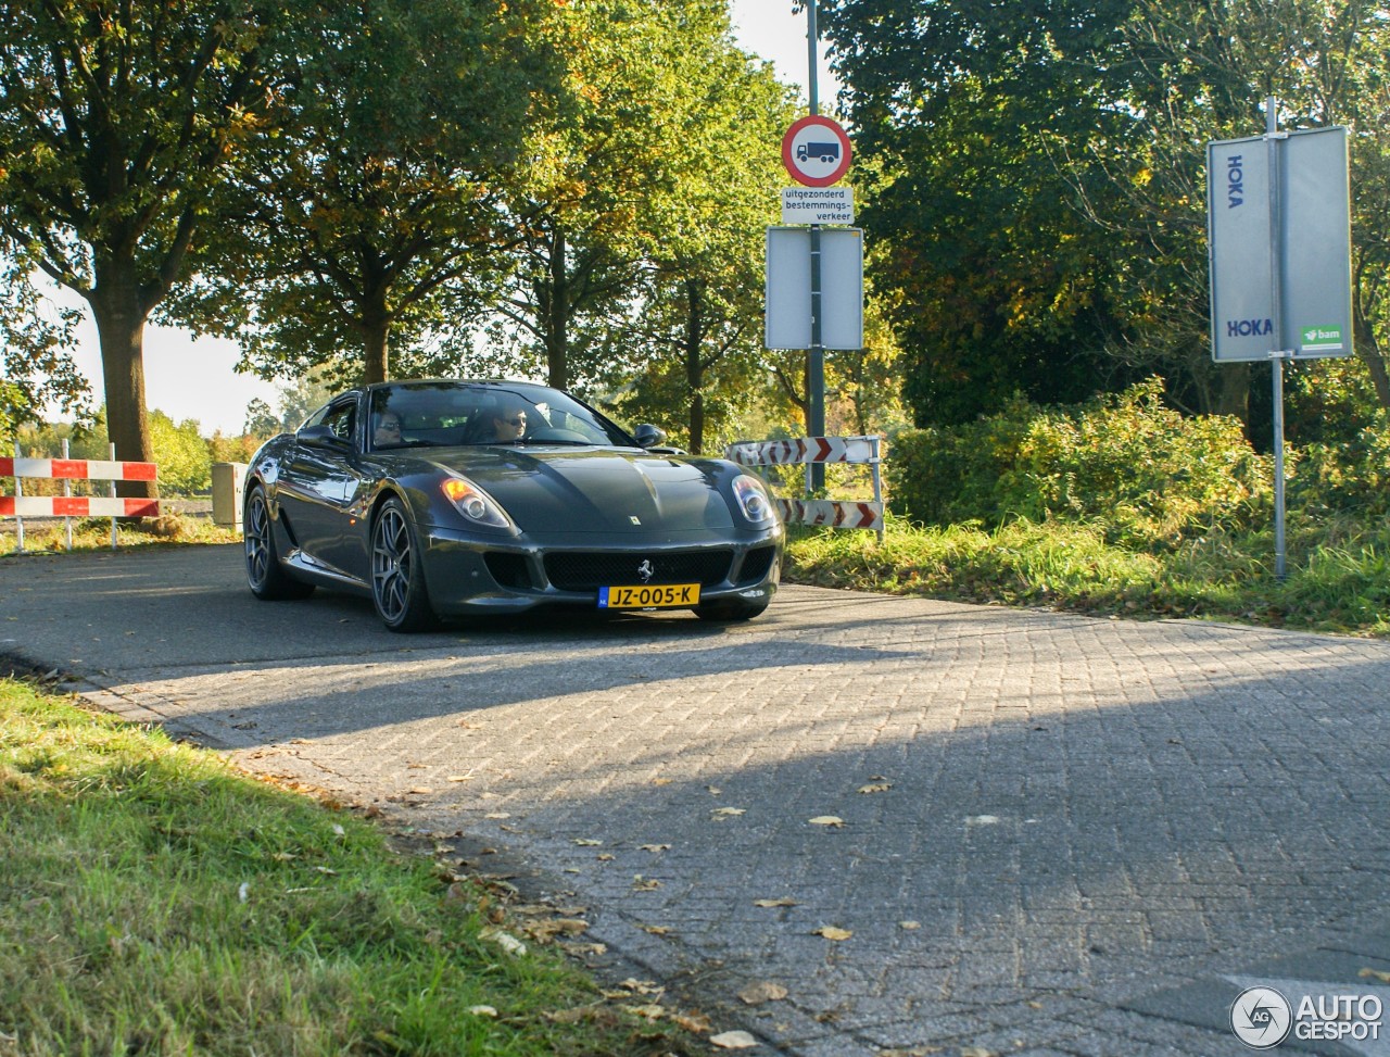
<instances>
[{"instance_id":1,"label":"blank grey rectangular sign below the round truck sign","mask_svg":"<svg viewBox=\"0 0 1390 1057\"><path fill-rule=\"evenodd\" d=\"M809 349L809 228L767 228L766 296L766 348ZM865 346L865 243L859 228L820 232L820 345Z\"/></svg>"}]
</instances>

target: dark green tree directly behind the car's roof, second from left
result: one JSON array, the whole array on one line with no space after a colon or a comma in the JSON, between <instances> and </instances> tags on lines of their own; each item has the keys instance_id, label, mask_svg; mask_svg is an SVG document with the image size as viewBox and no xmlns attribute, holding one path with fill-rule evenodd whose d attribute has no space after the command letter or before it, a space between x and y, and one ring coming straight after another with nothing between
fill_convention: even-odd
<instances>
[{"instance_id":1,"label":"dark green tree directly behind the car's roof, second from left","mask_svg":"<svg viewBox=\"0 0 1390 1057\"><path fill-rule=\"evenodd\" d=\"M392 346L449 327L516 239L503 189L557 95L553 4L356 0L314 10L285 57L285 127L238 179L232 239L200 256L196 325L236 337L264 377L336 364L398 373ZM409 373L409 366L406 367Z\"/></svg>"}]
</instances>

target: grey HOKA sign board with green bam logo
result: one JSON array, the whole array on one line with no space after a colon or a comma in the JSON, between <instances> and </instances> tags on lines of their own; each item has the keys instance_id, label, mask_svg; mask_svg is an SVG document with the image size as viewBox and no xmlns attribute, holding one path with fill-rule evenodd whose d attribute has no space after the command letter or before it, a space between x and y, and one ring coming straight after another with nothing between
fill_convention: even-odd
<instances>
[{"instance_id":1,"label":"grey HOKA sign board with green bam logo","mask_svg":"<svg viewBox=\"0 0 1390 1057\"><path fill-rule=\"evenodd\" d=\"M1350 356L1347 129L1207 145L1212 359ZM1277 312L1276 312L1277 305Z\"/></svg>"}]
</instances>

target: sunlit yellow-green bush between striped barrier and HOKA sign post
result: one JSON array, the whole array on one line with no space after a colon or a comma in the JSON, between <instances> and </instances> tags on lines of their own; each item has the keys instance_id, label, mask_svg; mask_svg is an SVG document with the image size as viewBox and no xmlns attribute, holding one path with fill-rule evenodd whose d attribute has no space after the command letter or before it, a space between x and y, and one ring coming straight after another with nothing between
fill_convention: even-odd
<instances>
[{"instance_id":1,"label":"sunlit yellow-green bush between striped barrier and HOKA sign post","mask_svg":"<svg viewBox=\"0 0 1390 1057\"><path fill-rule=\"evenodd\" d=\"M1074 408L1019 401L969 426L899 434L894 506L935 524L1095 523L1136 545L1251 524L1268 510L1269 460L1234 419L1186 419L1162 396L1151 378Z\"/></svg>"}]
</instances>

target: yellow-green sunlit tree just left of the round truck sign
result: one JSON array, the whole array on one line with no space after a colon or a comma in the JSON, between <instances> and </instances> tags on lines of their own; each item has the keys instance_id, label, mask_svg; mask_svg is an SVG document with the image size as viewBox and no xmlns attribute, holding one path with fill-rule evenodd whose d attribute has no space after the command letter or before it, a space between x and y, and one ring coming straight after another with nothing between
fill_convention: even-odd
<instances>
[{"instance_id":1,"label":"yellow-green sunlit tree just left of the round truck sign","mask_svg":"<svg viewBox=\"0 0 1390 1057\"><path fill-rule=\"evenodd\" d=\"M537 139L538 177L512 206L525 223L493 337L510 331L550 385L585 389L620 384L652 356L635 332L651 309L653 253L716 234L717 211L699 234L676 228L712 209L712 174L735 178L719 203L731 216L771 192L726 156L769 152L752 163L766 172L776 139L755 145L738 118L780 136L769 114L784 90L733 45L720 0L599 0L573 17L573 121ZM701 202L680 204L691 197Z\"/></svg>"}]
</instances>

